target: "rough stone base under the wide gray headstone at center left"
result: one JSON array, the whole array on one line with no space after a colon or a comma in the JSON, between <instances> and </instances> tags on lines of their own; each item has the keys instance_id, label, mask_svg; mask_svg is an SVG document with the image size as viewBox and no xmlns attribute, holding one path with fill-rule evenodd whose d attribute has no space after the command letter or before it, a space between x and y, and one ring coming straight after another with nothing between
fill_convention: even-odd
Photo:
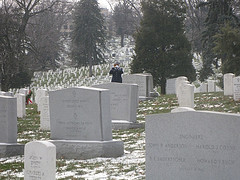
<instances>
[{"instance_id":1,"label":"rough stone base under the wide gray headstone at center left","mask_svg":"<svg viewBox=\"0 0 240 180\"><path fill-rule=\"evenodd\" d=\"M57 149L57 158L90 159L96 157L119 157L124 154L122 141L74 141L50 140Z\"/></svg>"}]
</instances>

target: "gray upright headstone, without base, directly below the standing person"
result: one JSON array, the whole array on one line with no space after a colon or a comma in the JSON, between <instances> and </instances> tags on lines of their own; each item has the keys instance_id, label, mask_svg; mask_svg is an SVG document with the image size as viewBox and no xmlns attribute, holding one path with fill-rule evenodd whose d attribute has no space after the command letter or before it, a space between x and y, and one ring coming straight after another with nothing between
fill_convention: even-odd
<instances>
[{"instance_id":1,"label":"gray upright headstone, without base, directly below the standing person","mask_svg":"<svg viewBox=\"0 0 240 180\"><path fill-rule=\"evenodd\" d=\"M136 122L138 86L136 84L106 83L94 87L110 90L112 120Z\"/></svg>"}]
</instances>

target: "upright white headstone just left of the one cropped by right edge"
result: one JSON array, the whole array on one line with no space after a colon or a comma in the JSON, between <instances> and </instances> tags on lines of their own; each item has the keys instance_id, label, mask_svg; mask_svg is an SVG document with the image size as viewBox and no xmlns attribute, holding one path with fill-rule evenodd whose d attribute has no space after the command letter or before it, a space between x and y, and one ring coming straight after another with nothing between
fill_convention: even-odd
<instances>
[{"instance_id":1,"label":"upright white headstone just left of the one cropped by right edge","mask_svg":"<svg viewBox=\"0 0 240 180\"><path fill-rule=\"evenodd\" d=\"M223 87L224 87L224 95L232 96L233 95L233 78L235 77L232 73L224 74L223 76Z\"/></svg>"}]
</instances>

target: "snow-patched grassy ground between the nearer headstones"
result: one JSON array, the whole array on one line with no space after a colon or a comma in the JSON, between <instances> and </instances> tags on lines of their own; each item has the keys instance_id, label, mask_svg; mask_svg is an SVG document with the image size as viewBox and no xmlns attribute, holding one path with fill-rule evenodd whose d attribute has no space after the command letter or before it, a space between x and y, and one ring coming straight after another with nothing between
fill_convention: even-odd
<instances>
[{"instance_id":1,"label":"snow-patched grassy ground between the nearer headstones","mask_svg":"<svg viewBox=\"0 0 240 180\"><path fill-rule=\"evenodd\" d=\"M240 113L240 102L223 92L197 93L195 110ZM178 107L175 95L161 95L139 103L137 120L145 122L148 114L168 113ZM27 105L26 117L18 119L18 143L49 140L50 132L39 130L36 104ZM124 155L118 158L88 160L57 159L56 179L145 179L144 128L113 130L113 139L124 142ZM23 179L24 156L0 158L0 179Z\"/></svg>"}]
</instances>

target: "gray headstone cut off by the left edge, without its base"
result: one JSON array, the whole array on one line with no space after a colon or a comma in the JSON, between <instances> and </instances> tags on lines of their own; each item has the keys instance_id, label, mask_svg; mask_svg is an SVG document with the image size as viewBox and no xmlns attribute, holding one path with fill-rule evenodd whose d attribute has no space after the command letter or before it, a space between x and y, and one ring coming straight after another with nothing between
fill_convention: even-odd
<instances>
[{"instance_id":1,"label":"gray headstone cut off by the left edge, without its base","mask_svg":"<svg viewBox=\"0 0 240 180\"><path fill-rule=\"evenodd\" d=\"M17 98L0 96L0 142L17 142Z\"/></svg>"}]
</instances>

